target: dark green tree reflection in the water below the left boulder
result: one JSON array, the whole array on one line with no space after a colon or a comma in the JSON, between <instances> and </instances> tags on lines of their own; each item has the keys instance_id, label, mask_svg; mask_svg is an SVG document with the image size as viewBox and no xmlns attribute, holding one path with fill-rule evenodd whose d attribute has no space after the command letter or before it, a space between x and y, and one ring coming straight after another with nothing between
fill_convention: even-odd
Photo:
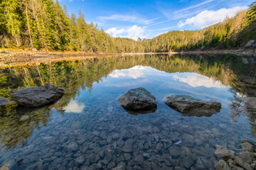
<instances>
[{"instance_id":1,"label":"dark green tree reflection in the water below the left boulder","mask_svg":"<svg viewBox=\"0 0 256 170\"><path fill-rule=\"evenodd\" d=\"M40 124L47 126L50 120L50 108L20 108L7 105L0 108L0 139L1 144L11 149L25 145L34 128L40 130ZM27 118L25 116L28 116ZM22 119L25 118L25 119Z\"/></svg>"}]
</instances>

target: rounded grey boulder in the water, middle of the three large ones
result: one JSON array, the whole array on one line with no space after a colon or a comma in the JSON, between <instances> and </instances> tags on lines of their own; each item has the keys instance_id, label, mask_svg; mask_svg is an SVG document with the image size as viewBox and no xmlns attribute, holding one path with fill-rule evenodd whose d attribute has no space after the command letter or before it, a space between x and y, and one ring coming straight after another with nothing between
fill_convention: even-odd
<instances>
[{"instance_id":1,"label":"rounded grey boulder in the water, middle of the three large ones","mask_svg":"<svg viewBox=\"0 0 256 170\"><path fill-rule=\"evenodd\" d=\"M129 90L126 94L119 96L118 100L126 110L150 110L157 107L156 98L142 87Z\"/></svg>"}]
</instances>

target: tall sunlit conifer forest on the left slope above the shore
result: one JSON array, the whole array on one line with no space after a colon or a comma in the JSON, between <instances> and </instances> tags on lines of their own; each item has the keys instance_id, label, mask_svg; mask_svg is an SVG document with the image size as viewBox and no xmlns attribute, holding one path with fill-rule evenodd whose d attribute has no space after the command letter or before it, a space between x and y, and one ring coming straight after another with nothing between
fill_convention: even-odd
<instances>
[{"instance_id":1,"label":"tall sunlit conifer forest on the left slope above the shore","mask_svg":"<svg viewBox=\"0 0 256 170\"><path fill-rule=\"evenodd\" d=\"M54 0L0 0L0 46L112 52L112 38Z\"/></svg>"}]
</instances>

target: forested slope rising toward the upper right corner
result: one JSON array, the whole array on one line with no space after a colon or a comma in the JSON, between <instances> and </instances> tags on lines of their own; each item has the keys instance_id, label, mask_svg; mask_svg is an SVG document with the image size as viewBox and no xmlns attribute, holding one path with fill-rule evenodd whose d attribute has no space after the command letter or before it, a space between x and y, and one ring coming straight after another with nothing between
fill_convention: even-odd
<instances>
[{"instance_id":1,"label":"forested slope rising toward the upper right corner","mask_svg":"<svg viewBox=\"0 0 256 170\"><path fill-rule=\"evenodd\" d=\"M144 41L146 52L176 50L234 49L256 40L256 3L247 11L203 30L170 31Z\"/></svg>"}]
</instances>

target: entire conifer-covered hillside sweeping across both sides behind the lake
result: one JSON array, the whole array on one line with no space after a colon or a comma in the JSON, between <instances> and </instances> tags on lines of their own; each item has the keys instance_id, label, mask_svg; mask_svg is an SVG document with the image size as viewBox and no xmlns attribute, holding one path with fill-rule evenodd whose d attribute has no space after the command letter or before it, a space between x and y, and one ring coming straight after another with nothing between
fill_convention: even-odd
<instances>
[{"instance_id":1,"label":"entire conifer-covered hillside sweeping across both sides behind the lake","mask_svg":"<svg viewBox=\"0 0 256 170\"><path fill-rule=\"evenodd\" d=\"M0 47L85 52L233 49L256 40L256 3L203 30L170 31L151 40L111 38L55 0L0 0Z\"/></svg>"}]
</instances>

